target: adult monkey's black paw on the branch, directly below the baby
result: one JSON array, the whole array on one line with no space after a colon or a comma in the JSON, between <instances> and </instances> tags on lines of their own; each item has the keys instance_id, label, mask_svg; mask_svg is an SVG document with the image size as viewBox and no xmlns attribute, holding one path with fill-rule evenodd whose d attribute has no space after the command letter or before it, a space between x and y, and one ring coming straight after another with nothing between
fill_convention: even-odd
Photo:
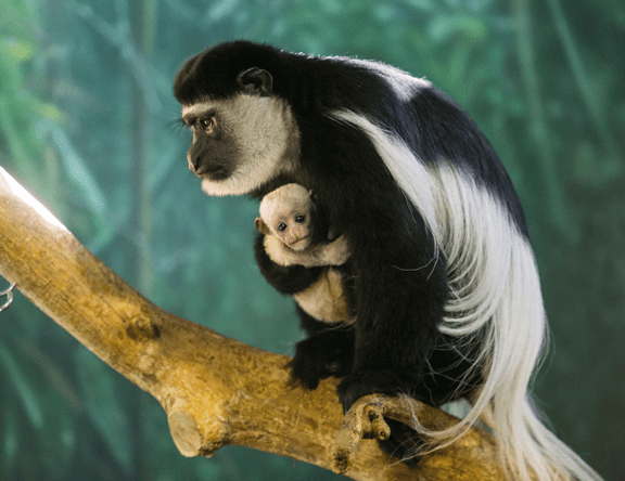
<instances>
[{"instance_id":1,"label":"adult monkey's black paw on the branch, directly below the baby","mask_svg":"<svg viewBox=\"0 0 625 481\"><path fill-rule=\"evenodd\" d=\"M297 342L290 363L291 378L305 388L316 389L320 379L349 374L353 363L353 332L329 328Z\"/></svg>"}]
</instances>

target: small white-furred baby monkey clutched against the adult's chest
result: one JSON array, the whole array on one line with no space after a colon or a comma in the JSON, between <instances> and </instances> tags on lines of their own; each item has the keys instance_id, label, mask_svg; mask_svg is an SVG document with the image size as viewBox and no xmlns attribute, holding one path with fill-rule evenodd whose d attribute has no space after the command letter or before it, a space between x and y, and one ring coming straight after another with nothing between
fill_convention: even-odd
<instances>
[{"instance_id":1,"label":"small white-furred baby monkey clutched against the adult's chest","mask_svg":"<svg viewBox=\"0 0 625 481\"><path fill-rule=\"evenodd\" d=\"M265 252L273 263L283 268L324 268L314 283L292 294L299 308L323 323L349 321L343 276L333 268L347 262L347 240L344 235L332 239L330 232L324 234L317 213L312 192L299 184L286 184L263 197L260 217L254 225L265 234ZM275 284L281 271L262 269L262 272Z\"/></svg>"}]
</instances>

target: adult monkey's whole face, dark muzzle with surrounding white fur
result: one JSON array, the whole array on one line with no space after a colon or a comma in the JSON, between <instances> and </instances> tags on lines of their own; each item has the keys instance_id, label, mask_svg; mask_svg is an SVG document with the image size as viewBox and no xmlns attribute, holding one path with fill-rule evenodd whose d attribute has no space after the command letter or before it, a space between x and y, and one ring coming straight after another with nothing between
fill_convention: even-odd
<instances>
[{"instance_id":1,"label":"adult monkey's whole face, dark muzzle with surrounding white fur","mask_svg":"<svg viewBox=\"0 0 625 481\"><path fill-rule=\"evenodd\" d=\"M208 195L247 194L298 158L298 131L288 105L270 96L237 94L186 106L193 131L189 168Z\"/></svg>"}]
</instances>

